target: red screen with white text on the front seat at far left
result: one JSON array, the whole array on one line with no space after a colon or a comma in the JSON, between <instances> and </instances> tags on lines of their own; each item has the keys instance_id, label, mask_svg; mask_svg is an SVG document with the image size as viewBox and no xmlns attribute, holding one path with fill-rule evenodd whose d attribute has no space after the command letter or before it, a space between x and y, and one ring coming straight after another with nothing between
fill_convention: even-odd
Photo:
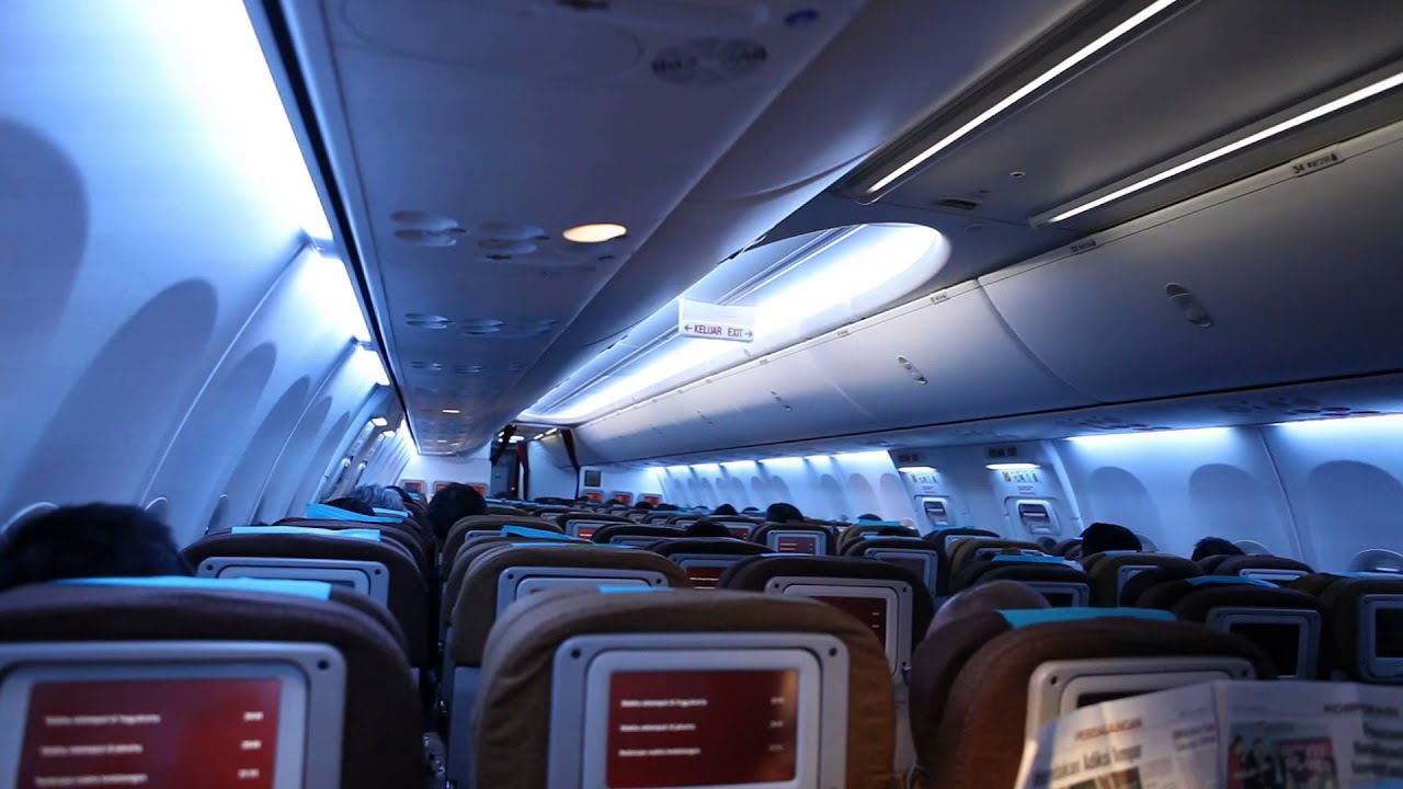
<instances>
[{"instance_id":1,"label":"red screen with white text on the front seat at far left","mask_svg":"<svg viewBox=\"0 0 1403 789\"><path fill-rule=\"evenodd\" d=\"M38 682L20 786L272 789L278 679Z\"/></svg>"}]
</instances>

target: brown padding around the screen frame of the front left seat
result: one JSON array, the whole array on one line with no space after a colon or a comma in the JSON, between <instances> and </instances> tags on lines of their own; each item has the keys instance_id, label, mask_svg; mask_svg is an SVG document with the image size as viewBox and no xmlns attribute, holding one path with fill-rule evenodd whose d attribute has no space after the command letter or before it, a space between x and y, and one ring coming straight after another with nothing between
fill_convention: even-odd
<instances>
[{"instance_id":1,"label":"brown padding around the screen frame of the front left seat","mask_svg":"<svg viewBox=\"0 0 1403 789\"><path fill-rule=\"evenodd\" d=\"M341 786L422 782L422 719L403 647L355 608L283 594L121 585L31 584L0 594L0 642L93 640L328 644L347 661Z\"/></svg>"}]
</instances>

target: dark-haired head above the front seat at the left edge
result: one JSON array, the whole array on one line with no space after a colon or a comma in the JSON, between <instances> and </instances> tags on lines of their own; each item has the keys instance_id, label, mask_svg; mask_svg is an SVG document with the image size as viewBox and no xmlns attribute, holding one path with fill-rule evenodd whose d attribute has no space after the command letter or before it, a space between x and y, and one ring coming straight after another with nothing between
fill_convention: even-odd
<instances>
[{"instance_id":1,"label":"dark-haired head above the front seat at the left edge","mask_svg":"<svg viewBox=\"0 0 1403 789\"><path fill-rule=\"evenodd\" d=\"M0 590L59 578L189 574L171 531L140 507L60 507L0 535Z\"/></svg>"}]
</instances>

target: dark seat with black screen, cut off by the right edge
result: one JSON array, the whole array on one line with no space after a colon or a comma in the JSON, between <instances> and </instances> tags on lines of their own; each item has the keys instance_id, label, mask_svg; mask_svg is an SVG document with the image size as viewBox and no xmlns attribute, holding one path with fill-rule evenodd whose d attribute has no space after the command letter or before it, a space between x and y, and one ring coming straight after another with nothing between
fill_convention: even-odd
<instances>
[{"instance_id":1,"label":"dark seat with black screen, cut off by the right edge","mask_svg":"<svg viewBox=\"0 0 1403 789\"><path fill-rule=\"evenodd\" d=\"M1360 682L1403 684L1403 578L1341 573L1319 595L1330 668Z\"/></svg>"}]
</instances>

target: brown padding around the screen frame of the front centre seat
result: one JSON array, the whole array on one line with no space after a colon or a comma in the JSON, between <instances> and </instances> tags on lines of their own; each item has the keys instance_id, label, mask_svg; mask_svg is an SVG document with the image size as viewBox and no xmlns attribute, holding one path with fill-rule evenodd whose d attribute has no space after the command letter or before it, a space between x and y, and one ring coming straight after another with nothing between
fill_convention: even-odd
<instances>
[{"instance_id":1,"label":"brown padding around the screen frame of the front centre seat","mask_svg":"<svg viewBox=\"0 0 1403 789\"><path fill-rule=\"evenodd\" d=\"M850 616L801 599L723 591L544 592L502 616L483 661L476 786L546 786L556 649L586 633L829 633L847 646L847 789L887 789L895 712L887 657Z\"/></svg>"}]
</instances>

